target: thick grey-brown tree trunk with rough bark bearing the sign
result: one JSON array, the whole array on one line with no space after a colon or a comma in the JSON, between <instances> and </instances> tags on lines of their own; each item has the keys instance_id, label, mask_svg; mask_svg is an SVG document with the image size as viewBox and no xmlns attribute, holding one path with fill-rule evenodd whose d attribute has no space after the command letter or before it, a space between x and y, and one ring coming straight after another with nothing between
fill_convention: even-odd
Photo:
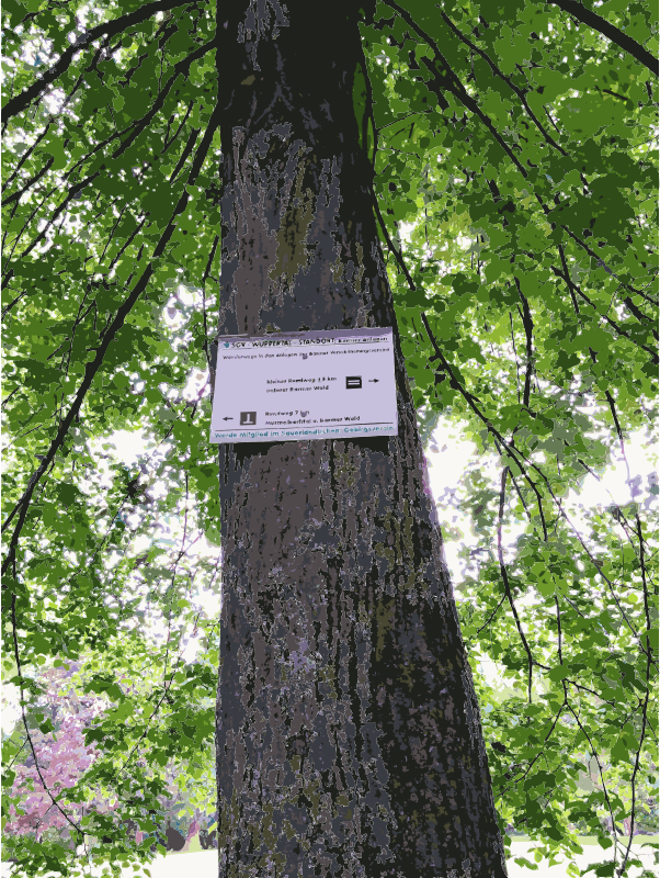
<instances>
[{"instance_id":1,"label":"thick grey-brown tree trunk with rough bark bearing the sign","mask_svg":"<svg viewBox=\"0 0 660 878\"><path fill-rule=\"evenodd\" d=\"M507 875L352 101L352 4L218 10L220 335L395 327L399 435L223 444L219 876Z\"/></svg>"}]
</instances>

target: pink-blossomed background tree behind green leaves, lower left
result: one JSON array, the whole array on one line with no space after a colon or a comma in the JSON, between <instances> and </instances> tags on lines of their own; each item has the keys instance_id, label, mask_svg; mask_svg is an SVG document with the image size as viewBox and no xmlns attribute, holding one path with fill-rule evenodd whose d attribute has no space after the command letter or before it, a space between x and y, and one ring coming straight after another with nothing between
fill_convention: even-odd
<instances>
[{"instance_id":1,"label":"pink-blossomed background tree behind green leaves, lower left","mask_svg":"<svg viewBox=\"0 0 660 878\"><path fill-rule=\"evenodd\" d=\"M115 812L120 807L116 799L111 800L104 795L98 776L90 770L100 756L98 745L84 744L86 731L94 728L99 731L109 708L116 709L117 703L111 701L107 693L92 697L84 694L89 680L80 679L80 664L56 660L55 666L46 665L34 676L41 694L38 698L30 699L31 703L25 708L34 752L27 746L30 742L22 721L7 736L3 735L3 748L8 755L5 781L13 778L9 799L14 802L9 806L3 833L9 837L29 836L30 842L34 840L37 844L55 841L78 853L111 841L105 835L94 838L77 833L78 820L90 813ZM132 695L136 695L136 683L124 676L118 680L118 690L116 686L112 687L112 695L120 691L125 705ZM145 695L143 688L143 698ZM155 772L149 764L148 746L143 747L140 762L140 773L152 778ZM202 823L200 801L206 803L215 788L210 750L205 761L206 778L204 772L200 772L198 758L193 764L185 759L178 762L177 773L171 763L166 766L166 788L158 808L139 809L139 803L135 802L140 811L139 818L118 822L125 835L122 853L132 851L134 842L138 845L144 842L143 846L153 852L157 843L162 843L169 851L181 851L190 848L193 840L197 838ZM192 777L196 783L191 792ZM65 789L72 821L57 808Z\"/></svg>"}]
</instances>

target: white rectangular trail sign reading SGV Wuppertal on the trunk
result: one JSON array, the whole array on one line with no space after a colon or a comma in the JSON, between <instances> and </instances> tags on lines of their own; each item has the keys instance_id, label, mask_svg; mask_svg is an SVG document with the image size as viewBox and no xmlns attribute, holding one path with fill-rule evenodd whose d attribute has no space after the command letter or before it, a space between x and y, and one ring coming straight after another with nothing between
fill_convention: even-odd
<instances>
[{"instance_id":1,"label":"white rectangular trail sign reading SGV Wuppertal on the trunk","mask_svg":"<svg viewBox=\"0 0 660 878\"><path fill-rule=\"evenodd\" d=\"M391 328L219 339L212 442L397 434Z\"/></svg>"}]
</instances>

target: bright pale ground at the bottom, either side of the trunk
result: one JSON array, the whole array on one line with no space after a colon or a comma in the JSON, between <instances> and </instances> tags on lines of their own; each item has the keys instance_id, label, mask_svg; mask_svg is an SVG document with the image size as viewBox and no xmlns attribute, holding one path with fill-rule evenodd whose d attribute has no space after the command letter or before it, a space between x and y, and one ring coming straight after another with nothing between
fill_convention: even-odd
<instances>
[{"instance_id":1,"label":"bright pale ground at the bottom, either side of the trunk","mask_svg":"<svg viewBox=\"0 0 660 878\"><path fill-rule=\"evenodd\" d=\"M647 869L651 873L655 871L653 855L650 847L642 848L645 842L660 841L660 835L637 835L633 842L633 851L638 854ZM581 845L584 847L584 854L576 856L576 864L580 868L585 866L603 863L610 859L606 852L604 852L596 843L595 838L584 836L580 838ZM531 853L533 844L528 840L515 838L512 842L512 856L508 863L509 878L567 878L566 866L567 862L557 866L547 865L545 863L536 863L534 854ZM525 857L533 865L532 871L524 864L515 863L515 859ZM158 856L151 864L151 878L217 878L218 860L216 851L196 851L186 854L168 854L167 856ZM88 875L90 873L87 873ZM639 878L642 870L639 867L629 867L626 870L626 878ZM8 878L11 875L11 866L9 863L2 864L2 878ZM101 868L92 869L91 876L98 878L102 875ZM591 876L594 873L590 874ZM143 878L144 873L136 871L133 868L125 869L123 878ZM15 876L15 878L19 878Z\"/></svg>"}]
</instances>

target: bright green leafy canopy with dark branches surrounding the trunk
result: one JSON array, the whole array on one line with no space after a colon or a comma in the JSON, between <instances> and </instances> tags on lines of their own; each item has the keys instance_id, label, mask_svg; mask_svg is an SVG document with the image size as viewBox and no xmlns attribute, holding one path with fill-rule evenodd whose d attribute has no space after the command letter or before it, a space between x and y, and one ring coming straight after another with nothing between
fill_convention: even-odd
<instances>
[{"instance_id":1,"label":"bright green leafy canopy with dark branches surrounding the trunk","mask_svg":"<svg viewBox=\"0 0 660 878\"><path fill-rule=\"evenodd\" d=\"M659 764L657 476L608 508L579 494L657 435L652 8L363 12L354 108L412 403L424 436L440 414L477 448L440 505L477 539L454 583L467 657L524 693L498 702L475 675L496 804L545 854L578 851L584 821L614 875L634 857L601 820L635 813ZM227 16L167 0L2 14L3 656L23 700L45 658L89 654L88 694L151 674L87 733L90 783L118 807L78 831L114 837L100 853L117 863L118 821L157 812L168 766L204 777L213 740ZM128 472L103 449L117 429L149 440ZM578 787L585 753L600 788ZM55 840L8 842L27 874L71 862Z\"/></svg>"}]
</instances>

